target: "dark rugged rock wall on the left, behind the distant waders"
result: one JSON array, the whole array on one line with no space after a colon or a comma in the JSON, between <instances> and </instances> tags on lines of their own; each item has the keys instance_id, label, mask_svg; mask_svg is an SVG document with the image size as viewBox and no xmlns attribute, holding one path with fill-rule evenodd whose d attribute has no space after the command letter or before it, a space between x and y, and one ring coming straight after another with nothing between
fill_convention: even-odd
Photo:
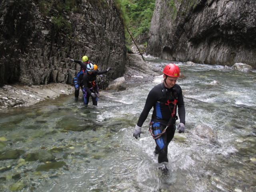
<instances>
[{"instance_id":1,"label":"dark rugged rock wall on the left, behind the distant waders","mask_svg":"<svg viewBox=\"0 0 256 192\"><path fill-rule=\"evenodd\" d=\"M80 0L78 13L63 12L59 29L52 15L40 12L40 1L20 0L0 2L0 86L13 82L26 85L50 82L72 83L80 66L69 57L89 61L99 70L112 67L104 81L108 83L124 73L126 47L124 29L114 0L100 5Z\"/></svg>"}]
</instances>

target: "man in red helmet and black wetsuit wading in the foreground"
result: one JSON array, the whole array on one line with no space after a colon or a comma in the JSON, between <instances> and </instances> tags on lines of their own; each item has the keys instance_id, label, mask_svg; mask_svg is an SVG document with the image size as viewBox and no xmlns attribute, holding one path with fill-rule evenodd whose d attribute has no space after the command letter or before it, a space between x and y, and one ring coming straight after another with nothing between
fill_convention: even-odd
<instances>
[{"instance_id":1,"label":"man in red helmet and black wetsuit wading in the foreground","mask_svg":"<svg viewBox=\"0 0 256 192\"><path fill-rule=\"evenodd\" d=\"M150 121L150 133L156 142L154 153L158 154L158 163L168 162L168 144L174 137L175 124L178 119L176 116L177 106L180 118L179 133L183 133L185 130L185 106L182 89L176 84L176 80L180 76L180 69L174 64L168 64L164 67L163 73L164 82L158 84L149 92L133 133L136 139L138 136L140 137L142 124L152 107L154 107ZM166 167L165 170L167 170Z\"/></svg>"}]
</instances>

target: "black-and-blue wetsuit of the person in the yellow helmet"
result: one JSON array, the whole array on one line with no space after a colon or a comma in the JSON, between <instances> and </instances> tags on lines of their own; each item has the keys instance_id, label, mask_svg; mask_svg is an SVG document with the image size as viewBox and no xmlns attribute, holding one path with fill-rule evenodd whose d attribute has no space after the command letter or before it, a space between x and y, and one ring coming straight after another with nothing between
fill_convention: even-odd
<instances>
[{"instance_id":1,"label":"black-and-blue wetsuit of the person in the yellow helmet","mask_svg":"<svg viewBox=\"0 0 256 192\"><path fill-rule=\"evenodd\" d=\"M87 61L86 63L84 63L80 60L74 60L74 62L80 64L80 66L81 66L79 73L76 74L76 76L74 76L74 78L73 78L73 83L75 86L75 98L78 99L80 87L81 87L81 89L83 88L82 81L83 81L84 73L86 72L86 65L89 62Z\"/></svg>"}]
</instances>

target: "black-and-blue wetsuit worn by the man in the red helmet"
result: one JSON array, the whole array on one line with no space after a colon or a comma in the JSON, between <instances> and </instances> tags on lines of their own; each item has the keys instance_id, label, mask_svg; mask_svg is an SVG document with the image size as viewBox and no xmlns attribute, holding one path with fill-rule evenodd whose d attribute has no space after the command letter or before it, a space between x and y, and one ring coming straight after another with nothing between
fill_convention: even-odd
<instances>
[{"instance_id":1,"label":"black-and-blue wetsuit worn by the man in the red helmet","mask_svg":"<svg viewBox=\"0 0 256 192\"><path fill-rule=\"evenodd\" d=\"M172 88L168 89L164 87L164 83L158 84L149 92L148 97L146 99L146 104L142 113L140 114L140 118L138 120L137 125L142 127L142 124L148 117L148 113L154 107L152 114L152 132L154 135L162 132L170 118L171 122L170 126L167 128L166 132L162 134L162 136L156 139L156 149L159 152L158 163L168 162L167 153L168 153L168 144L174 137L175 133L175 122L177 119L176 109L174 109L175 103L178 106L178 115L180 118L180 122L185 124L185 106L184 100L182 96L182 89L179 85L175 84ZM168 104L169 103L169 104ZM172 113L174 113L172 117Z\"/></svg>"}]
</instances>

